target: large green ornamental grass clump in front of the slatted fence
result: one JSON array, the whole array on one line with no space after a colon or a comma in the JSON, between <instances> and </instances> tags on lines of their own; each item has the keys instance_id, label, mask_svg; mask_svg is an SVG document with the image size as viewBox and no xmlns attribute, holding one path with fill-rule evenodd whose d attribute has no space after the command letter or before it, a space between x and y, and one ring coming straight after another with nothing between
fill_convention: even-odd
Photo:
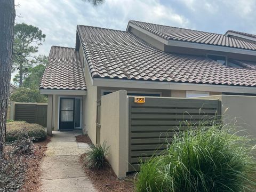
<instances>
[{"instance_id":1,"label":"large green ornamental grass clump in front of the slatted fence","mask_svg":"<svg viewBox=\"0 0 256 192\"><path fill-rule=\"evenodd\" d=\"M191 127L174 137L164 155L141 164L137 191L255 191L251 140L234 129Z\"/></svg>"}]
</instances>

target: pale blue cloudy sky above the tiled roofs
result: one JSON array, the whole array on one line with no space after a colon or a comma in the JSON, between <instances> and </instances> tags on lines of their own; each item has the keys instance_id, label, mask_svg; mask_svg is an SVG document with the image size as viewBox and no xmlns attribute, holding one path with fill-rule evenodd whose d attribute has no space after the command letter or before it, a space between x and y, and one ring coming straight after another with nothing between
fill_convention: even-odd
<instances>
[{"instance_id":1,"label":"pale blue cloudy sky above the tiled roofs","mask_svg":"<svg viewBox=\"0 0 256 192\"><path fill-rule=\"evenodd\" d=\"M38 54L52 45L75 47L76 25L126 30L129 20L224 34L256 34L255 0L15 0L16 23L37 26L46 35Z\"/></svg>"}]
</instances>

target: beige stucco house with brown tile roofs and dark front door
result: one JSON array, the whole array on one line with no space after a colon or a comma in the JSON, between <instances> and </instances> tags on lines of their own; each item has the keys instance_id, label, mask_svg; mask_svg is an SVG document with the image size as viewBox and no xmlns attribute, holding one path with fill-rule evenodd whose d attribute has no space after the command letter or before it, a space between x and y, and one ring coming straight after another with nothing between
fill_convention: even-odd
<instances>
[{"instance_id":1,"label":"beige stucco house with brown tile roofs and dark front door","mask_svg":"<svg viewBox=\"0 0 256 192\"><path fill-rule=\"evenodd\" d=\"M256 94L256 37L129 21L126 31L77 26L75 48L52 46L39 89L47 133L83 129L97 142L102 95Z\"/></svg>"}]
</instances>

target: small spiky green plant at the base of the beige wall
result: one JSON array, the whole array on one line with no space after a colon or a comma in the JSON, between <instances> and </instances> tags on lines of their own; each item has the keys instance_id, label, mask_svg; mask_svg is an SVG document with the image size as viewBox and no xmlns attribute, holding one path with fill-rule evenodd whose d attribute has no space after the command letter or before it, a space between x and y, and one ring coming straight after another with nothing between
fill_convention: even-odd
<instances>
[{"instance_id":1,"label":"small spiky green plant at the base of the beige wall","mask_svg":"<svg viewBox=\"0 0 256 192\"><path fill-rule=\"evenodd\" d=\"M89 169L102 169L108 162L106 159L108 153L108 147L106 147L106 142L103 142L102 146L91 145L91 149L87 152L86 162Z\"/></svg>"}]
</instances>

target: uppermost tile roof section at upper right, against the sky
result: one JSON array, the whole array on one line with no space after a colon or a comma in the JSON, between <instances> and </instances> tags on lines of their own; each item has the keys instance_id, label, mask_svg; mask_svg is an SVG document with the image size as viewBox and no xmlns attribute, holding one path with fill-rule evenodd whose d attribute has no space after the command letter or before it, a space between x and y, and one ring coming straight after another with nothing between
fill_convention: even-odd
<instances>
[{"instance_id":1,"label":"uppermost tile roof section at upper right, against the sky","mask_svg":"<svg viewBox=\"0 0 256 192\"><path fill-rule=\"evenodd\" d=\"M135 26L149 31L166 40L200 43L208 45L219 45L256 51L256 44L242 39L228 37L222 34L214 34L203 31L156 25L141 21L129 21Z\"/></svg>"}]
</instances>

